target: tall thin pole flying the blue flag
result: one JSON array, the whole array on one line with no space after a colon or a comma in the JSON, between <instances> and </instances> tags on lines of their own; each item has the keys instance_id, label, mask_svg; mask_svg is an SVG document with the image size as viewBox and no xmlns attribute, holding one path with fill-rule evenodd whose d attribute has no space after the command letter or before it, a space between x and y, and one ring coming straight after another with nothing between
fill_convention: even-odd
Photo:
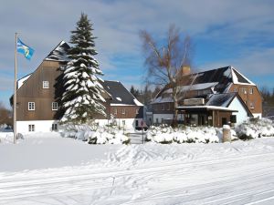
<instances>
[{"instance_id":1,"label":"tall thin pole flying the blue flag","mask_svg":"<svg viewBox=\"0 0 274 205\"><path fill-rule=\"evenodd\" d=\"M14 143L16 144L16 89L17 89L17 33L15 49L15 94L14 94Z\"/></svg>"}]
</instances>

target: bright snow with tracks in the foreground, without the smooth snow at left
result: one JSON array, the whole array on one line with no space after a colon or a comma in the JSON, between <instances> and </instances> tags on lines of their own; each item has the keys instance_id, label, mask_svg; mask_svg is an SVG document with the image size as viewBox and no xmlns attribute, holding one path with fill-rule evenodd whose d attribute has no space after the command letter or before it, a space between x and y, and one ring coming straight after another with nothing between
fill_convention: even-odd
<instances>
[{"instance_id":1,"label":"bright snow with tracks in the foreground, without the smooth snow at left","mask_svg":"<svg viewBox=\"0 0 274 205\"><path fill-rule=\"evenodd\" d=\"M93 165L0 172L0 204L274 204L273 144L125 146Z\"/></svg>"}]
</instances>

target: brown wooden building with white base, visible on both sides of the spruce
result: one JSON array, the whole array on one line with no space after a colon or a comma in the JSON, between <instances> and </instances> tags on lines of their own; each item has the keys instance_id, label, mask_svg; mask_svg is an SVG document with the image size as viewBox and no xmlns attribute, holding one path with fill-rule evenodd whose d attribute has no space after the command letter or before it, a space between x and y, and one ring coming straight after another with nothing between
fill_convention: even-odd
<instances>
[{"instance_id":1,"label":"brown wooden building with white base, visible on both sides of the spruce","mask_svg":"<svg viewBox=\"0 0 274 205\"><path fill-rule=\"evenodd\" d=\"M17 81L16 126L17 131L58 130L58 121L64 111L60 97L64 91L62 69L67 62L68 44L60 42L42 61L37 69ZM104 106L107 117L98 116L100 125L114 121L125 128L135 128L142 121L142 103L122 86L121 82L104 81L107 91Z\"/></svg>"}]
</instances>

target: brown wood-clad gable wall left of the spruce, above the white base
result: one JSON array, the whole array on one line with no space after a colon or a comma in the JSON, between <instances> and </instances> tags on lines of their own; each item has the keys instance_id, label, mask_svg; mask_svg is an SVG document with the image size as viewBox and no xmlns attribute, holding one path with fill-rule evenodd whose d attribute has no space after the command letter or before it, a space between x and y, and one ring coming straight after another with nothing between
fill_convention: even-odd
<instances>
[{"instance_id":1,"label":"brown wood-clad gable wall left of the spruce, above the white base","mask_svg":"<svg viewBox=\"0 0 274 205\"><path fill-rule=\"evenodd\" d=\"M58 89L59 63L43 61L17 90L17 120L53 120L60 118L58 110L52 110L52 103L59 102L61 88ZM48 88L43 88L43 81ZM29 110L28 103L34 102L35 110ZM58 103L59 104L59 103ZM59 105L58 105L59 106Z\"/></svg>"}]
</instances>

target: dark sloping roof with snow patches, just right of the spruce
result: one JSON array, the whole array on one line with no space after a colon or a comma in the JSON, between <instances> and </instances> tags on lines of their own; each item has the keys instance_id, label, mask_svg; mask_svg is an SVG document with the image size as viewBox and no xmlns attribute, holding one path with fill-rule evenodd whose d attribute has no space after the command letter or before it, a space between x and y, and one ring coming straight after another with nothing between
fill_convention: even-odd
<instances>
[{"instance_id":1,"label":"dark sloping roof with snow patches, just right of the spruce","mask_svg":"<svg viewBox=\"0 0 274 205\"><path fill-rule=\"evenodd\" d=\"M105 80L102 86L111 94L112 106L143 106L119 81Z\"/></svg>"}]
</instances>

